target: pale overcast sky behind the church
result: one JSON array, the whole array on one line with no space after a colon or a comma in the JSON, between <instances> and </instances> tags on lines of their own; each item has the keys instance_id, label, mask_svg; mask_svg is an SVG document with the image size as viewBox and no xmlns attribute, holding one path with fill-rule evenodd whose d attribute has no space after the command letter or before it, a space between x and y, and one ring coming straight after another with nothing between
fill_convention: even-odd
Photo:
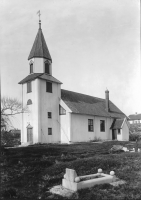
<instances>
[{"instance_id":1,"label":"pale overcast sky behind the church","mask_svg":"<svg viewBox=\"0 0 141 200\"><path fill-rule=\"evenodd\" d=\"M3 0L1 94L21 100L28 56L42 31L62 88L110 100L127 116L141 113L139 0ZM20 124L20 120L18 120Z\"/></svg>"}]
</instances>

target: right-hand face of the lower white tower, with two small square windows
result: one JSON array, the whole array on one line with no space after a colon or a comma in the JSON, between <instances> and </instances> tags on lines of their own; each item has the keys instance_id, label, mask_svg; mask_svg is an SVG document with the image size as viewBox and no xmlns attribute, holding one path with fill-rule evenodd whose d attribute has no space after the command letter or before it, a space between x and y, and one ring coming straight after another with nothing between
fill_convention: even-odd
<instances>
[{"instance_id":1,"label":"right-hand face of the lower white tower, with two small square windows","mask_svg":"<svg viewBox=\"0 0 141 200\"><path fill-rule=\"evenodd\" d=\"M52 93L46 92L46 81L40 80L40 141L42 143L60 142L59 103L61 97L60 84L52 83ZM52 118L48 118L48 112ZM48 135L52 128L52 135Z\"/></svg>"}]
</instances>

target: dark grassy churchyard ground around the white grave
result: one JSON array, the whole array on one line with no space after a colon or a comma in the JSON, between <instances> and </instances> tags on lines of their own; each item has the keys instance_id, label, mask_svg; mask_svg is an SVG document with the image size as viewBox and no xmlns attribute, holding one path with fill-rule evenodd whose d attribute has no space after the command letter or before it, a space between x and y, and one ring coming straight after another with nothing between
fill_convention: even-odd
<instances>
[{"instance_id":1,"label":"dark grassy churchyard ground around the white grave","mask_svg":"<svg viewBox=\"0 0 141 200\"><path fill-rule=\"evenodd\" d=\"M109 154L114 144L129 142L48 144L1 149L1 199L66 199L49 193L61 184L66 168L78 176L112 170L126 181L118 187L96 185L74 194L75 199L141 199L141 153ZM63 154L63 156L62 156Z\"/></svg>"}]
</instances>

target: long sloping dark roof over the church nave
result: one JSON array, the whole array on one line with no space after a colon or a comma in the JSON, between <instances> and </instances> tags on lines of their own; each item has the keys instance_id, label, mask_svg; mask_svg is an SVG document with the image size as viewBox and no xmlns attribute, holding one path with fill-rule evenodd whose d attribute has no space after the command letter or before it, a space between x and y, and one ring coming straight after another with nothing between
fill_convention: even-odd
<instances>
[{"instance_id":1,"label":"long sloping dark roof over the church nave","mask_svg":"<svg viewBox=\"0 0 141 200\"><path fill-rule=\"evenodd\" d=\"M105 99L61 90L61 98L73 113L112 118L125 118L126 115L109 101L110 111L106 111Z\"/></svg>"}]
</instances>

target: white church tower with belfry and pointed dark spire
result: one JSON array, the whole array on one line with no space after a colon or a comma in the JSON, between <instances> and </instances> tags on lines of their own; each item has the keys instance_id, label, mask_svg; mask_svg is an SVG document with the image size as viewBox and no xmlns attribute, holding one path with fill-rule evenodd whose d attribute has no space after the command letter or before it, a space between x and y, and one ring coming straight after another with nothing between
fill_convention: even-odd
<instances>
[{"instance_id":1,"label":"white church tower with belfry and pointed dark spire","mask_svg":"<svg viewBox=\"0 0 141 200\"><path fill-rule=\"evenodd\" d=\"M29 112L22 114L23 144L60 142L59 104L61 82L52 76L52 58L39 19L39 29L28 56L29 74L22 85L22 102Z\"/></svg>"}]
</instances>

